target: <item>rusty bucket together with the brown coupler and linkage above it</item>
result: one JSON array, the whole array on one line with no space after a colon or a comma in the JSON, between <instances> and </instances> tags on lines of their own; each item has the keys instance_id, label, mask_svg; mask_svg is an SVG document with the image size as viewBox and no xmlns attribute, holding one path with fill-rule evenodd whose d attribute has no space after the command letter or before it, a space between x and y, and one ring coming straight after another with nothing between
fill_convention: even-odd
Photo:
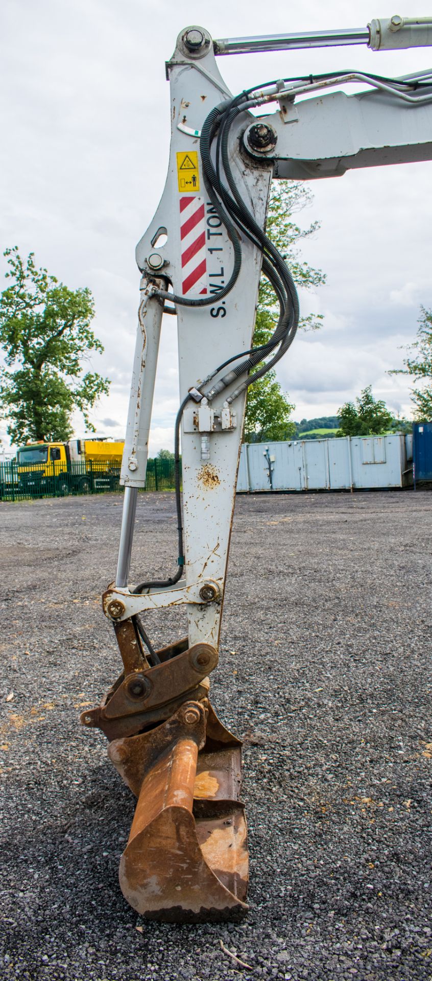
<instances>
[{"instance_id":1,"label":"rusty bucket together with the brown coupler and linkage above it","mask_svg":"<svg viewBox=\"0 0 432 981\"><path fill-rule=\"evenodd\" d=\"M110 759L137 798L121 891L150 919L239 919L248 910L241 743L208 698L216 648L184 638L145 666L133 631L127 621L118 629L124 670L102 704L81 715L108 737Z\"/></svg>"}]
</instances>

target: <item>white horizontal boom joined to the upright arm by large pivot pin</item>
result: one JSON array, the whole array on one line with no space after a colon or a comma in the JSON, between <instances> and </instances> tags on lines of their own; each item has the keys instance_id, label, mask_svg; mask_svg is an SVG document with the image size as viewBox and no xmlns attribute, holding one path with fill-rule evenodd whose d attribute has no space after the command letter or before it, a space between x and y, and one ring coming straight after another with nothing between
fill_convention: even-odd
<instances>
[{"instance_id":1,"label":"white horizontal boom joined to the upright arm by large pivot pin","mask_svg":"<svg viewBox=\"0 0 432 981\"><path fill-rule=\"evenodd\" d=\"M329 91L350 82L369 90L355 95ZM313 90L319 94L305 98ZM243 143L257 162L273 163L274 177L339 177L350 169L432 158L430 73L391 84L360 73L320 78L281 86L272 99L278 111L254 120Z\"/></svg>"}]
</instances>

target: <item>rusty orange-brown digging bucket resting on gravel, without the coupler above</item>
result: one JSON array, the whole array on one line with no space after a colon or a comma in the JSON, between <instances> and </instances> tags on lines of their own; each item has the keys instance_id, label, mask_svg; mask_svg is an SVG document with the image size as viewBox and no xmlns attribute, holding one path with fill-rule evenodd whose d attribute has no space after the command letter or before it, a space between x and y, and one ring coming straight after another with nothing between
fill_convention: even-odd
<instances>
[{"instance_id":1,"label":"rusty orange-brown digging bucket resting on gravel, without the coupler above","mask_svg":"<svg viewBox=\"0 0 432 981\"><path fill-rule=\"evenodd\" d=\"M109 755L138 798L120 860L124 898L150 919L199 922L247 912L241 744L207 702L186 701Z\"/></svg>"}]
</instances>

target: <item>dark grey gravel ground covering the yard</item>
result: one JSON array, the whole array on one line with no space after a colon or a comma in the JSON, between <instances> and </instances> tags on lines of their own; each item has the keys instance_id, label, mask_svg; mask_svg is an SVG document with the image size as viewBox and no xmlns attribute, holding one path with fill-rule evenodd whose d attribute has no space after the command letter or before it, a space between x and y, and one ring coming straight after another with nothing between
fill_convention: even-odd
<instances>
[{"instance_id":1,"label":"dark grey gravel ground covering the yard","mask_svg":"<svg viewBox=\"0 0 432 981\"><path fill-rule=\"evenodd\" d=\"M237 500L213 700L245 741L241 925L147 923L120 894L134 804L77 722L119 672L120 506L0 504L1 977L432 978L430 492ZM172 567L174 532L172 495L142 494L136 576Z\"/></svg>"}]
</instances>

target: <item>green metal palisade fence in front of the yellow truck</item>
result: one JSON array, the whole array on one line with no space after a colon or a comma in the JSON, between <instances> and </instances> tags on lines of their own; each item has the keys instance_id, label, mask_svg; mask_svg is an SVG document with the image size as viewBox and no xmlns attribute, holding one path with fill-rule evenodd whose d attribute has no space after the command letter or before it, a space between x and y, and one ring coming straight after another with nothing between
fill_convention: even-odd
<instances>
[{"instance_id":1,"label":"green metal palisade fence in front of the yellow truck","mask_svg":"<svg viewBox=\"0 0 432 981\"><path fill-rule=\"evenodd\" d=\"M173 490L174 461L159 457L148 460L144 490ZM68 494L122 490L120 461L61 461L18 466L16 460L0 463L0 500L29 500L34 497L66 497Z\"/></svg>"}]
</instances>

